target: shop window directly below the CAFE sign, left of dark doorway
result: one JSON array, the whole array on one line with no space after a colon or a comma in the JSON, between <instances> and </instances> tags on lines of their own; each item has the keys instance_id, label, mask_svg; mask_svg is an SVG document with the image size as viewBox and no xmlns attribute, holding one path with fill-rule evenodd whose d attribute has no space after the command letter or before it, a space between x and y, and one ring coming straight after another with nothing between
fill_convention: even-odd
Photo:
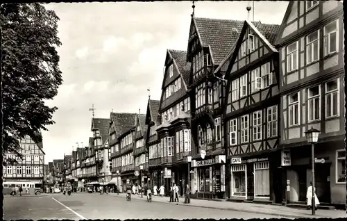
<instances>
[{"instance_id":1,"label":"shop window directly below the CAFE sign, left of dark doorway","mask_svg":"<svg viewBox=\"0 0 347 221\"><path fill-rule=\"evenodd\" d=\"M246 196L246 164L232 165L232 187L233 196Z\"/></svg>"}]
</instances>

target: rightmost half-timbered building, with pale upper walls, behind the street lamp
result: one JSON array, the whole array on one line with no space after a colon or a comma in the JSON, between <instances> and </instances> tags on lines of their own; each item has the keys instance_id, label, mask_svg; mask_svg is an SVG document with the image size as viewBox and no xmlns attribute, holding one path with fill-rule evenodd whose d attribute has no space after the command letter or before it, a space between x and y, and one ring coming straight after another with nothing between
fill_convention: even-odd
<instances>
[{"instance_id":1,"label":"rightmost half-timbered building, with pale upper walls, behind the street lamp","mask_svg":"<svg viewBox=\"0 0 347 221\"><path fill-rule=\"evenodd\" d=\"M305 202L312 181L305 131L315 144L316 195L321 204L345 204L344 12L341 1L291 1L276 39L280 51L282 179L288 202ZM285 189L285 186L282 187ZM285 191L285 190L283 190Z\"/></svg>"}]
</instances>

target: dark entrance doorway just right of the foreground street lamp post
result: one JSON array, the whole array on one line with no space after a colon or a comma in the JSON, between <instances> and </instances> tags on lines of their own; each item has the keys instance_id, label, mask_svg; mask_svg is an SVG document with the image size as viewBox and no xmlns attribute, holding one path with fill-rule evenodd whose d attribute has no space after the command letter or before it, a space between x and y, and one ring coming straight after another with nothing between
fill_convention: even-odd
<instances>
[{"instance_id":1,"label":"dark entrance doorway just right of the foreground street lamp post","mask_svg":"<svg viewBox=\"0 0 347 221\"><path fill-rule=\"evenodd\" d=\"M316 163L316 195L320 202L330 204L330 166L331 163Z\"/></svg>"}]
</instances>

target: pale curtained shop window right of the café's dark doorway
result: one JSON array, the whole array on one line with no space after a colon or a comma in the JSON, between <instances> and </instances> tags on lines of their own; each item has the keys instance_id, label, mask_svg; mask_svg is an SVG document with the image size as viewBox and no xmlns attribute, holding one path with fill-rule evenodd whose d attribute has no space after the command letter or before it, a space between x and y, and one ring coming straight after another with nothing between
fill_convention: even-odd
<instances>
[{"instance_id":1,"label":"pale curtained shop window right of the caf\u00e9's dark doorway","mask_svg":"<svg viewBox=\"0 0 347 221\"><path fill-rule=\"evenodd\" d=\"M255 197L270 197L269 161L254 163L254 183Z\"/></svg>"}]
</instances>

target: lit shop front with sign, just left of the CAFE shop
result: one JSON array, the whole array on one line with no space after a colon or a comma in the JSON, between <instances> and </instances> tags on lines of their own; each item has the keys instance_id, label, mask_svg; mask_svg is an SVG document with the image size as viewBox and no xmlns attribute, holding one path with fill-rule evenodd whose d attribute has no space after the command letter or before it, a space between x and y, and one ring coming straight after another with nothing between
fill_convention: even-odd
<instances>
[{"instance_id":1,"label":"lit shop front with sign, just left of the CAFE shop","mask_svg":"<svg viewBox=\"0 0 347 221\"><path fill-rule=\"evenodd\" d=\"M192 161L192 198L223 199L225 193L225 156Z\"/></svg>"}]
</instances>

